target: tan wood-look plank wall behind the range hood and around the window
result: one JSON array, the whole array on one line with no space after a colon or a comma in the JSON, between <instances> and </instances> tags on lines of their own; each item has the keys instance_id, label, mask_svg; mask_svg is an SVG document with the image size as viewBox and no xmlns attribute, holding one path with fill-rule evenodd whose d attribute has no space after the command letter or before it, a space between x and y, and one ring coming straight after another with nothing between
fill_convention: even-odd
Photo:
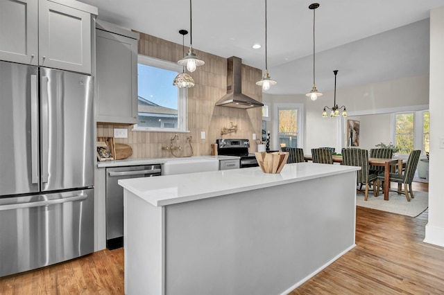
<instances>
[{"instance_id":1,"label":"tan wood-look plank wall behind the range hood and around the window","mask_svg":"<svg viewBox=\"0 0 444 295\"><path fill-rule=\"evenodd\" d=\"M191 149L187 137L192 136L191 145L194 156L210 155L211 144L216 138L249 138L250 152L257 151L257 143L252 140L255 133L262 138L262 110L234 109L232 107L216 107L215 103L225 95L227 88L227 59L197 51L198 57L205 60L203 66L190 73L195 85L188 89L188 130L190 133L178 133L180 152L178 156L188 156ZM176 44L151 35L140 33L139 54L177 62L182 58L182 44ZM255 100L262 101L262 88L255 82L261 80L262 70L242 65L242 92ZM172 82L172 81L171 81ZM223 127L230 127L230 122L237 125L237 132L221 135ZM133 159L173 157L162 146L170 143L176 133L171 132L132 132L132 125L97 125L97 136L113 136L114 128L128 128L128 138L115 138L116 143L126 143L133 147ZM200 139L200 132L205 132L205 139Z\"/></svg>"}]
</instances>

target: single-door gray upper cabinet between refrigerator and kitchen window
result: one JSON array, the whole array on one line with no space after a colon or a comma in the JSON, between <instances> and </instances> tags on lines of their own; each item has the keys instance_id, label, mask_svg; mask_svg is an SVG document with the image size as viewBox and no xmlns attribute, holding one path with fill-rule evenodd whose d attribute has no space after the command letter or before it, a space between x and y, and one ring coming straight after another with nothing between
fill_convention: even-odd
<instances>
[{"instance_id":1,"label":"single-door gray upper cabinet between refrigerator and kitchen window","mask_svg":"<svg viewBox=\"0 0 444 295\"><path fill-rule=\"evenodd\" d=\"M96 21L97 122L137 124L139 34Z\"/></svg>"}]
</instances>

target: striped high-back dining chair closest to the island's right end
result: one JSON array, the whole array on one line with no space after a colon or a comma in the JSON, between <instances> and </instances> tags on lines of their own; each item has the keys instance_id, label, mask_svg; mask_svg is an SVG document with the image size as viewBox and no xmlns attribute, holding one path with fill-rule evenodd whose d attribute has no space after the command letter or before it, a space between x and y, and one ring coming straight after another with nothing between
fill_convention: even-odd
<instances>
[{"instance_id":1,"label":"striped high-back dining chair closest to the island's right end","mask_svg":"<svg viewBox=\"0 0 444 295\"><path fill-rule=\"evenodd\" d=\"M370 174L370 164L368 164L368 150L361 150L359 148L348 148L342 150L342 163L347 166L360 166L361 170L357 171L357 184L360 184L359 190L364 193L364 200L368 198L368 186L373 183L373 195L377 197L375 181L377 177L375 174ZM361 190L362 186L366 186L364 192Z\"/></svg>"}]
</instances>

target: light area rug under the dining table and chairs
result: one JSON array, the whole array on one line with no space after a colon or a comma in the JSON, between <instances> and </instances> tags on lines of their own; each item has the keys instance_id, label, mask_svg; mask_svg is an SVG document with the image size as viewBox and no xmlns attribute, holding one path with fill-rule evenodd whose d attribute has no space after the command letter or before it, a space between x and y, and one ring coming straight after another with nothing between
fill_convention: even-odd
<instances>
[{"instance_id":1,"label":"light area rug under the dining table and chairs","mask_svg":"<svg viewBox=\"0 0 444 295\"><path fill-rule=\"evenodd\" d=\"M413 195L415 198L407 202L404 194L398 195L398 193L390 192L388 201L384 201L384 193L380 193L378 197L375 197L369 192L367 201L364 201L364 194L357 192L356 206L416 217L428 208L429 193L413 190Z\"/></svg>"}]
</instances>

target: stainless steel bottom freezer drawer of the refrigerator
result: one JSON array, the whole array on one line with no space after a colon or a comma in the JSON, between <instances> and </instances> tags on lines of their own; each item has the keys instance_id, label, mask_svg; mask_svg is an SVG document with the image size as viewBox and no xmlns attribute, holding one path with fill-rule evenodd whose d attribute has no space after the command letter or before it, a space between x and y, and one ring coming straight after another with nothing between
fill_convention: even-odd
<instances>
[{"instance_id":1,"label":"stainless steel bottom freezer drawer of the refrigerator","mask_svg":"<svg viewBox=\"0 0 444 295\"><path fill-rule=\"evenodd\" d=\"M0 276L94 251L94 189L0 199Z\"/></svg>"}]
</instances>

